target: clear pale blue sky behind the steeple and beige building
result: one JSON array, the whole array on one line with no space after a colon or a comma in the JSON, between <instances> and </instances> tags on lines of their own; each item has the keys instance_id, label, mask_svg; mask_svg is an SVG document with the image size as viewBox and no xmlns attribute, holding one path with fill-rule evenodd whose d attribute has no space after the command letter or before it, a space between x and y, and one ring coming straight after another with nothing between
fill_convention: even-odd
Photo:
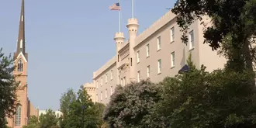
<instances>
[{"instance_id":1,"label":"clear pale blue sky behind the steeple and beige building","mask_svg":"<svg viewBox=\"0 0 256 128\"><path fill-rule=\"evenodd\" d=\"M40 109L59 109L67 88L78 90L115 55L114 34L119 13L109 5L117 0L25 0L26 52L29 54L29 99ZM175 0L134 0L139 33L161 18ZM0 1L0 47L16 50L21 0ZM131 1L121 1L121 29L127 37Z\"/></svg>"}]
</instances>

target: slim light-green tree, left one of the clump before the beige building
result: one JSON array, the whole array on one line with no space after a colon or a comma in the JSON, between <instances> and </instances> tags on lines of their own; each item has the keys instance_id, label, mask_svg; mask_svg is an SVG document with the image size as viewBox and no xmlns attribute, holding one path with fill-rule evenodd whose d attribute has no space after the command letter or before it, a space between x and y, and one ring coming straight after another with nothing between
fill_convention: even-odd
<instances>
[{"instance_id":1,"label":"slim light-green tree, left one of the clump before the beige building","mask_svg":"<svg viewBox=\"0 0 256 128\"><path fill-rule=\"evenodd\" d=\"M64 127L67 123L67 113L69 112L69 108L71 106L71 103L76 100L76 94L73 89L68 88L67 92L61 95L61 112L62 116L60 119L60 125Z\"/></svg>"}]
</instances>

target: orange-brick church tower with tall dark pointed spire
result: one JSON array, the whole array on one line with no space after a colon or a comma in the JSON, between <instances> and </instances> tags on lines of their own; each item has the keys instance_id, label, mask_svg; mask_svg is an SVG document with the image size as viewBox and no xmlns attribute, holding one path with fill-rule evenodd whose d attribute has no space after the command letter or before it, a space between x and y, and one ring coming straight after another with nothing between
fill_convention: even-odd
<instances>
[{"instance_id":1,"label":"orange-brick church tower with tall dark pointed spire","mask_svg":"<svg viewBox=\"0 0 256 128\"><path fill-rule=\"evenodd\" d=\"M28 98L27 92L27 67L28 67L28 54L26 53L26 40L25 40L25 13L24 13L24 0L22 0L21 15L19 19L19 36L17 40L17 50L14 54L16 70L13 74L16 75L16 81L19 81L19 88L16 94L18 96L19 104L16 106L16 115L8 118L8 126L12 128L22 128L29 123L29 116L38 116L38 109L35 109L33 104Z\"/></svg>"}]
</instances>

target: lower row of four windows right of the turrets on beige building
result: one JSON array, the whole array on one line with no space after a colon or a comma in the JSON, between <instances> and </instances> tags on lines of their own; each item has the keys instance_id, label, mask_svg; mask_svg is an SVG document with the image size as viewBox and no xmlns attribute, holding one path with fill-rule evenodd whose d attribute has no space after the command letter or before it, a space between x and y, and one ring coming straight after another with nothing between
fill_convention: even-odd
<instances>
[{"instance_id":1,"label":"lower row of four windows right of the turrets on beige building","mask_svg":"<svg viewBox=\"0 0 256 128\"><path fill-rule=\"evenodd\" d=\"M162 62L161 59L157 61L157 74L161 74ZM175 67L175 52L171 53L171 68ZM147 78L150 77L150 65L147 66ZM140 71L137 71L137 81L140 82Z\"/></svg>"}]
</instances>

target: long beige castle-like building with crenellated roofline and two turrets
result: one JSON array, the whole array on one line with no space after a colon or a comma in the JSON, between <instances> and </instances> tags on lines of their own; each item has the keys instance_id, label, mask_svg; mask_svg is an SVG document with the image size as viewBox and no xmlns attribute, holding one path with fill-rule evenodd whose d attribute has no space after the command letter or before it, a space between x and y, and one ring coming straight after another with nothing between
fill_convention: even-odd
<instances>
[{"instance_id":1,"label":"long beige castle-like building with crenellated roofline and two turrets","mask_svg":"<svg viewBox=\"0 0 256 128\"><path fill-rule=\"evenodd\" d=\"M207 17L203 20L210 24ZM189 54L196 67L204 64L207 71L223 68L226 59L203 44L205 26L200 21L193 22L188 32L189 43L185 45L171 10L138 36L138 20L128 19L128 40L124 41L123 33L116 33L116 56L93 73L95 101L108 103L116 85L142 79L158 82L167 76L173 77L186 64Z\"/></svg>"}]
</instances>

